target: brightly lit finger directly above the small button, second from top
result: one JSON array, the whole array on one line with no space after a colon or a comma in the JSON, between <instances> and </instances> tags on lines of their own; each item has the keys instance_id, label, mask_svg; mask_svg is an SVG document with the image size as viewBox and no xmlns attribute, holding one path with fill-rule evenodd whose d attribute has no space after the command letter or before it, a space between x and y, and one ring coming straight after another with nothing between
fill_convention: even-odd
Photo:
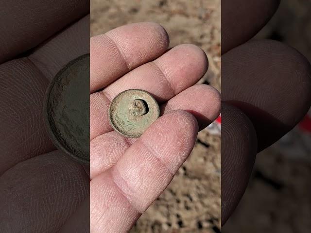
<instances>
[{"instance_id":1,"label":"brightly lit finger directly above the small button, second from top","mask_svg":"<svg viewBox=\"0 0 311 233\"><path fill-rule=\"evenodd\" d=\"M142 89L163 102L197 83L206 73L205 52L191 44L178 45L152 62L125 74L104 88L103 93L113 99L128 89Z\"/></svg>"}]
</instances>

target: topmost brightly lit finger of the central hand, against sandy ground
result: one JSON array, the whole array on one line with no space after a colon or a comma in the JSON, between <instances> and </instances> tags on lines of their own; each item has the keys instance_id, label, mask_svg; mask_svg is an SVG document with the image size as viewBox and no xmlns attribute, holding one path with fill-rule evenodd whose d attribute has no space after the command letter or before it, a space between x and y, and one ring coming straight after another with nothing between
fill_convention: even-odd
<instances>
[{"instance_id":1,"label":"topmost brightly lit finger of the central hand, against sandy ground","mask_svg":"<svg viewBox=\"0 0 311 233\"><path fill-rule=\"evenodd\" d=\"M169 36L156 23L121 26L90 39L90 93L167 50Z\"/></svg>"}]
</instances>

